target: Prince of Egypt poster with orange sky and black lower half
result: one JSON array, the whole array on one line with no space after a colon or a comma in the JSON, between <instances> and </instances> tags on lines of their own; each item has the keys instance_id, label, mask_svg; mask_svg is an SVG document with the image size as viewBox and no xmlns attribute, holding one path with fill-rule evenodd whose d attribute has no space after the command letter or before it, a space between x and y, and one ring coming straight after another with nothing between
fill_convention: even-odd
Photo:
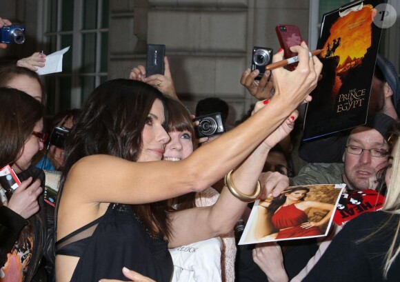
<instances>
[{"instance_id":1,"label":"Prince of Egypt poster with orange sky and black lower half","mask_svg":"<svg viewBox=\"0 0 400 282\"><path fill-rule=\"evenodd\" d=\"M382 30L373 22L379 17L374 7L383 2L356 1L323 15L322 79L307 105L303 140L366 123Z\"/></svg>"}]
</instances>

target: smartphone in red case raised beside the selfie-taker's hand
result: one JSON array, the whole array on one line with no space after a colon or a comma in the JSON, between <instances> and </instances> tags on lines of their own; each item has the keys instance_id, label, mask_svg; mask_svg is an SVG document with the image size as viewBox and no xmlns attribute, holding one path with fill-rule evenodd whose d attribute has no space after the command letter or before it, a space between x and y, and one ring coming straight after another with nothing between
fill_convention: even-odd
<instances>
[{"instance_id":1,"label":"smartphone in red case raised beside the selfie-taker's hand","mask_svg":"<svg viewBox=\"0 0 400 282\"><path fill-rule=\"evenodd\" d=\"M285 52L285 58L297 56L296 52L290 51L290 47L300 45L301 41L303 41L299 28L294 25L279 24L275 27L275 31L277 32L279 44Z\"/></svg>"}]
</instances>

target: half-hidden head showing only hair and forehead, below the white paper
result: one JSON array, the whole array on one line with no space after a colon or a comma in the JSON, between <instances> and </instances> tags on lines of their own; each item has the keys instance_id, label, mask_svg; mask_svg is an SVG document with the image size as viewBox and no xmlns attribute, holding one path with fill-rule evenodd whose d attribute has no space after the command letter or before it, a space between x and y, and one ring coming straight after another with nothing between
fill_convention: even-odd
<instances>
[{"instance_id":1,"label":"half-hidden head showing only hair and forehead, below the white paper","mask_svg":"<svg viewBox=\"0 0 400 282\"><path fill-rule=\"evenodd\" d=\"M0 87L21 90L46 105L46 92L39 74L28 68L14 65L0 68Z\"/></svg>"}]
</instances>

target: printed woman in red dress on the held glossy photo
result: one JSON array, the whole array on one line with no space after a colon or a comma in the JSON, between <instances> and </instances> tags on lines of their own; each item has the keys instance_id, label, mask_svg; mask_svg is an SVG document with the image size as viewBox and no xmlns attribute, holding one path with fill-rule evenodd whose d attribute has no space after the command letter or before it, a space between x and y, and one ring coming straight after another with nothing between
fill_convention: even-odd
<instances>
[{"instance_id":1,"label":"printed woman in red dress on the held glossy photo","mask_svg":"<svg viewBox=\"0 0 400 282\"><path fill-rule=\"evenodd\" d=\"M260 205L268 209L270 219L275 228L279 230L275 239L286 239L303 236L321 235L319 226L328 222L332 215L334 205L317 201L304 201L310 189L306 187L294 187L282 192L281 196L271 203L260 202ZM307 212L310 208L328 210L321 221L308 220Z\"/></svg>"}]
</instances>

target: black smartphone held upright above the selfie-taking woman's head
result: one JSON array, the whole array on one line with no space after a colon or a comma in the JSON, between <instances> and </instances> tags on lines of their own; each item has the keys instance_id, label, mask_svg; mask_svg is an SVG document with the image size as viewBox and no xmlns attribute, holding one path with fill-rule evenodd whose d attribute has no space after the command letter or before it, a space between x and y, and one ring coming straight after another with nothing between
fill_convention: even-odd
<instances>
[{"instance_id":1,"label":"black smartphone held upright above the selfie-taking woman's head","mask_svg":"<svg viewBox=\"0 0 400 282\"><path fill-rule=\"evenodd\" d=\"M146 77L152 74L164 74L164 56L166 46L163 44L148 44L146 57Z\"/></svg>"}]
</instances>

